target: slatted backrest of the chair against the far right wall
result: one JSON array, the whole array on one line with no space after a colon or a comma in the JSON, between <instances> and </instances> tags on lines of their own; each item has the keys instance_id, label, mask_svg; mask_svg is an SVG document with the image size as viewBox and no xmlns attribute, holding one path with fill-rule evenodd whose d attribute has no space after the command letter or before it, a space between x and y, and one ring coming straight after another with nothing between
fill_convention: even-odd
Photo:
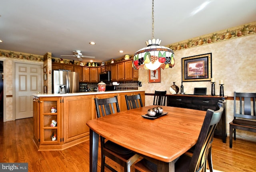
<instances>
[{"instance_id":1,"label":"slatted backrest of the chair against the far right wall","mask_svg":"<svg viewBox=\"0 0 256 172\"><path fill-rule=\"evenodd\" d=\"M239 99L239 110L236 109L236 98ZM256 119L255 98L256 93L234 92L234 119L236 119L236 117ZM236 112L237 110L239 113Z\"/></svg>"}]
</instances>

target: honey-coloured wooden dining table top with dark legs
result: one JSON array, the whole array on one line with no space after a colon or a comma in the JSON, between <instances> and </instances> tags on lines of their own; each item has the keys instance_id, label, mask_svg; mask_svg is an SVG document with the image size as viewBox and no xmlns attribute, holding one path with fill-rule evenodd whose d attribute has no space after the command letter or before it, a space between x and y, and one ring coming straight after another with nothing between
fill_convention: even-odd
<instances>
[{"instance_id":1,"label":"honey-coloured wooden dining table top with dark legs","mask_svg":"<svg viewBox=\"0 0 256 172\"><path fill-rule=\"evenodd\" d=\"M174 160L193 147L206 111L161 106L166 115L142 117L145 106L87 121L90 127L90 172L97 172L99 135L144 158L153 160L158 170L174 172Z\"/></svg>"}]
</instances>

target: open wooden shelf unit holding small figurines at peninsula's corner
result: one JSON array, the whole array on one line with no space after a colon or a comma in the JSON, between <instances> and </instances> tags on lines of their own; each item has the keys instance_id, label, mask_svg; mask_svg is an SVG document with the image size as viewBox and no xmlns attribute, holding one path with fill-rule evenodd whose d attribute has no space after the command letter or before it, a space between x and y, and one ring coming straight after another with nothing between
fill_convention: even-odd
<instances>
[{"instance_id":1,"label":"open wooden shelf unit holding small figurines at peninsula's corner","mask_svg":"<svg viewBox=\"0 0 256 172\"><path fill-rule=\"evenodd\" d=\"M40 145L56 145L61 141L61 121L60 121L60 97L40 98ZM56 112L52 113L51 109L55 108ZM51 127L52 120L56 121L55 127ZM52 139L52 136L56 140Z\"/></svg>"}]
</instances>

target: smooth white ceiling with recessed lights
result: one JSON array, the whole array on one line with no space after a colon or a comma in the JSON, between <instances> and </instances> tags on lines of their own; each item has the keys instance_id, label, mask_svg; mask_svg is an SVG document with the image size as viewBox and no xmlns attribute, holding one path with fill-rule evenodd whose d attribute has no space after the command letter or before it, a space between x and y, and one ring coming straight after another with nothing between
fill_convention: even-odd
<instances>
[{"instance_id":1,"label":"smooth white ceiling with recessed lights","mask_svg":"<svg viewBox=\"0 0 256 172\"><path fill-rule=\"evenodd\" d=\"M256 0L154 1L154 38L161 45L254 21ZM2 0L0 5L0 49L58 58L80 50L101 62L134 55L151 38L151 0Z\"/></svg>"}]
</instances>

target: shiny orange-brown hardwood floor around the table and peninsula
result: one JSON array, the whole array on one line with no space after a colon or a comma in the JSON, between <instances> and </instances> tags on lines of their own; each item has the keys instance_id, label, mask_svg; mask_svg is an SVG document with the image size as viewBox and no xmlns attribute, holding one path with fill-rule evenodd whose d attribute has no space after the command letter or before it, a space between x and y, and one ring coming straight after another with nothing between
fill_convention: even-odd
<instances>
[{"instance_id":1,"label":"shiny orange-brown hardwood floor around the table and peninsula","mask_svg":"<svg viewBox=\"0 0 256 172\"><path fill-rule=\"evenodd\" d=\"M33 118L0 122L0 162L28 162L29 172L89 172L89 141L64 151L37 151L32 137ZM254 142L237 139L230 149L229 143L214 138L212 158L215 172L256 172L255 156ZM116 169L123 171L118 165Z\"/></svg>"}]
</instances>

